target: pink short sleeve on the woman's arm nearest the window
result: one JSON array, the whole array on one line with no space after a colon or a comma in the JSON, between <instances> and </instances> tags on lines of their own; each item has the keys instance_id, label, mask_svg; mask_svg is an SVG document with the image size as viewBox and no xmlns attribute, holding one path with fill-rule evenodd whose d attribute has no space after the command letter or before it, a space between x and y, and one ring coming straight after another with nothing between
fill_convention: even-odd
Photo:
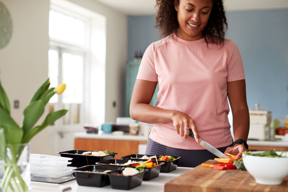
<instances>
[{"instance_id":1,"label":"pink short sleeve on the woman's arm nearest the window","mask_svg":"<svg viewBox=\"0 0 288 192\"><path fill-rule=\"evenodd\" d=\"M142 79L147 81L158 81L158 75L155 70L155 46L151 43L145 50L136 79Z\"/></svg>"}]
</instances>

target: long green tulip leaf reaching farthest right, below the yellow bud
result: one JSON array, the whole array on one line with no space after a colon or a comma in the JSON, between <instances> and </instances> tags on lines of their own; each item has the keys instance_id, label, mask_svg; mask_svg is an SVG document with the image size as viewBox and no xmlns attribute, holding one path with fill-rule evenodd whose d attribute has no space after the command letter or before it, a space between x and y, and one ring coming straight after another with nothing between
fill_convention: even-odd
<instances>
[{"instance_id":1,"label":"long green tulip leaf reaching farthest right, below the yellow bud","mask_svg":"<svg viewBox=\"0 0 288 192\"><path fill-rule=\"evenodd\" d=\"M25 136L23 138L23 143L28 143L31 138L33 138L37 133L39 133L40 131L42 131L44 128L46 128L48 125L50 125L51 123L53 123L54 121L56 121L57 119L59 119L60 117L62 117L63 115L65 115L67 113L68 110L62 109L59 111L55 111L52 113L49 113L46 116L46 119L43 121L43 123L40 126L37 126L33 129L30 130L29 134L27 134L27 136Z\"/></svg>"}]
</instances>

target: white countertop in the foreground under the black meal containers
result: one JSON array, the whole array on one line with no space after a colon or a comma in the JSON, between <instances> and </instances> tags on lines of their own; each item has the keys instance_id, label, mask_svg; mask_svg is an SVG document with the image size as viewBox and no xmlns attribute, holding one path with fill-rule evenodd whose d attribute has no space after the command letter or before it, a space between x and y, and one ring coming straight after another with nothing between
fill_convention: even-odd
<instances>
[{"instance_id":1,"label":"white countertop in the foreground under the black meal containers","mask_svg":"<svg viewBox=\"0 0 288 192\"><path fill-rule=\"evenodd\" d=\"M71 189L67 190L67 192L95 192L95 191L129 191L129 192L163 192L164 191L164 184L168 181L180 176L181 174L191 170L193 168L187 167L177 167L175 170L169 173L159 173L159 176L153 178L148 181L142 181L141 185L130 189L130 190L119 190L119 189L112 189L110 185L105 187L86 187L86 186L79 186L76 180L72 180L62 184L52 184L52 183L43 183L43 182L31 182L32 190L31 192L45 192L45 191L63 191L63 189Z\"/></svg>"}]
</instances>

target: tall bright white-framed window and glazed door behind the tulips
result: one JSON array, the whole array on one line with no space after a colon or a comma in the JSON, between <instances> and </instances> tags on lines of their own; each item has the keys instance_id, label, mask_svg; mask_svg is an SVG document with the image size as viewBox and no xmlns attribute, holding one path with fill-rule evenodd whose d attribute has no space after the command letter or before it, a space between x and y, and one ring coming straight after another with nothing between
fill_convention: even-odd
<instances>
[{"instance_id":1,"label":"tall bright white-framed window and glazed door behind the tulips","mask_svg":"<svg viewBox=\"0 0 288 192\"><path fill-rule=\"evenodd\" d=\"M68 109L50 130L98 126L105 121L106 17L69 1L50 2L48 75L51 86L66 83L66 90L49 106L51 112Z\"/></svg>"}]
</instances>

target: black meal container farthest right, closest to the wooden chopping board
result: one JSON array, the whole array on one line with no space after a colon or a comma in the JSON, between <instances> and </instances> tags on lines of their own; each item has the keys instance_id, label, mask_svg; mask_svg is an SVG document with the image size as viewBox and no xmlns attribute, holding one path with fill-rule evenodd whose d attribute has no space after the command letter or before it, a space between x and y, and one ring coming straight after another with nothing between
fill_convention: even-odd
<instances>
[{"instance_id":1,"label":"black meal container farthest right, closest to the wooden chopping board","mask_svg":"<svg viewBox=\"0 0 288 192\"><path fill-rule=\"evenodd\" d=\"M130 159L131 161L135 161L135 160L147 161L147 159L141 159L141 157L143 157L143 156L144 155L142 155L142 154L132 154L132 155L126 155L126 156L120 157L120 158L121 159L127 159L127 160ZM146 156L151 157L151 156L155 156L155 155L146 155ZM157 157L157 159L160 159L162 157L162 155L156 155L156 157ZM171 172L177 168L178 161L182 157L174 157L174 158L175 158L175 160L173 160L173 161L158 161L158 163L164 163L160 169L161 173L168 173L168 172ZM156 163L155 158L152 158L152 161L154 163Z\"/></svg>"}]
</instances>

